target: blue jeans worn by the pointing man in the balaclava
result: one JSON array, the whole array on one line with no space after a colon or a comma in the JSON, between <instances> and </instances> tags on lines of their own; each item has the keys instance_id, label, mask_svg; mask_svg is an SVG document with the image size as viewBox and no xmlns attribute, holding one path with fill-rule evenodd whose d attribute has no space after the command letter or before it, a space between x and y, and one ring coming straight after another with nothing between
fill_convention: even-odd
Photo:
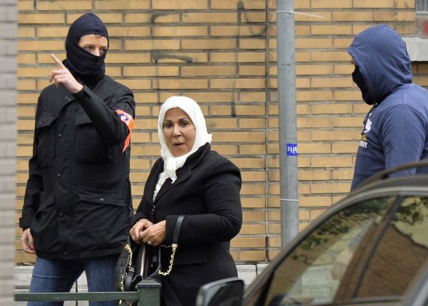
<instances>
[{"instance_id":1,"label":"blue jeans worn by the pointing man in the balaclava","mask_svg":"<svg viewBox=\"0 0 428 306\"><path fill-rule=\"evenodd\" d=\"M42 259L37 257L30 292L70 292L73 283L86 272L88 292L114 291L114 268L118 254L81 259ZM90 306L113 306L116 301L90 301ZM62 306L60 302L28 302L28 306Z\"/></svg>"}]
</instances>

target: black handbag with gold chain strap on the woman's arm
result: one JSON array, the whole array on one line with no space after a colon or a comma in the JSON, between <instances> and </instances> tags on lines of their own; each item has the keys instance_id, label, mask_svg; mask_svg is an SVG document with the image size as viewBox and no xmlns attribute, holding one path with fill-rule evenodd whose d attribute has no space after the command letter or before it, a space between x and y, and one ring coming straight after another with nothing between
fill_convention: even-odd
<instances>
[{"instance_id":1,"label":"black handbag with gold chain strap on the woman's arm","mask_svg":"<svg viewBox=\"0 0 428 306\"><path fill-rule=\"evenodd\" d=\"M160 283L159 275L166 276L170 274L174 263L174 255L178 247L178 234L180 233L184 217L184 215L180 215L177 218L171 246L162 244L159 247L155 247L146 243L139 245L132 239L129 239L124 244L114 271L116 291L135 291L137 283L143 279L154 279ZM161 267L161 247L172 248L170 264L166 271L163 271ZM128 305L122 303L122 300L119 301L119 305Z\"/></svg>"}]
</instances>

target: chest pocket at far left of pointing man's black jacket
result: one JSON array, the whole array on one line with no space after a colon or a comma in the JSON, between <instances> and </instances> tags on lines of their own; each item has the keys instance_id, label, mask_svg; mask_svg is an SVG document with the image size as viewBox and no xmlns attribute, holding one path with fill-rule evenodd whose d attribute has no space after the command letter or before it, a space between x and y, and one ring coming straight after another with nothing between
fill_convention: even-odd
<instances>
[{"instance_id":1,"label":"chest pocket at far left of pointing man's black jacket","mask_svg":"<svg viewBox=\"0 0 428 306\"><path fill-rule=\"evenodd\" d=\"M36 122L37 163L40 168L52 167L54 164L56 118L43 115Z\"/></svg>"}]
</instances>

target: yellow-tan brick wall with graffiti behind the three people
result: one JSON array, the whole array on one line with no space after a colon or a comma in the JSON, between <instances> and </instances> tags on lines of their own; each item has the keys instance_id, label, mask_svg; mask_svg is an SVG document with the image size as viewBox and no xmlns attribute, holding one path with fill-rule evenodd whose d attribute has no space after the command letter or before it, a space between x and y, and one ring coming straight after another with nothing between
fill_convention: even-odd
<instances>
[{"instance_id":1,"label":"yellow-tan brick wall with graffiti behind the three people","mask_svg":"<svg viewBox=\"0 0 428 306\"><path fill-rule=\"evenodd\" d=\"M375 23L414 34L414 0L295 0L295 9L302 13L295 15L302 229L350 187L368 107L353 85L346 49L353 36ZM129 86L137 101L131 160L135 207L159 156L159 105L185 94L200 103L213 149L241 168L244 223L232 241L232 255L251 263L278 253L274 0L19 0L18 10L18 215L36 101L54 67L49 53L63 59L68 26L83 12L94 12L111 36L107 73ZM417 80L428 83L423 76ZM16 233L18 239L21 231ZM17 262L34 261L17 247Z\"/></svg>"}]
</instances>

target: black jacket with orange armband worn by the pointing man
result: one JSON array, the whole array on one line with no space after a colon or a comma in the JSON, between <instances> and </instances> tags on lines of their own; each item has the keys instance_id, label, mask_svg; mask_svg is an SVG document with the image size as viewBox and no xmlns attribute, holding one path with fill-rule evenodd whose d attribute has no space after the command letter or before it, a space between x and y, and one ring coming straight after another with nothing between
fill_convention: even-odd
<instances>
[{"instance_id":1,"label":"black jacket with orange armband worn by the pointing man","mask_svg":"<svg viewBox=\"0 0 428 306\"><path fill-rule=\"evenodd\" d=\"M135 117L133 93L107 76L75 95L55 85L40 94L20 219L39 257L120 253L133 211L129 129L116 110Z\"/></svg>"}]
</instances>

